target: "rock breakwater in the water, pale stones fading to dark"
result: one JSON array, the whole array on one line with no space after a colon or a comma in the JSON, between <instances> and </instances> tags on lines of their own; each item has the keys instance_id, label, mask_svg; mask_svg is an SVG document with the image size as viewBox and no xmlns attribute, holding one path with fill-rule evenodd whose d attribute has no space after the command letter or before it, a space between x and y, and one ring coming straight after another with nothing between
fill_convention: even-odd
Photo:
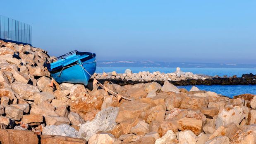
<instances>
[{"instance_id":1,"label":"rock breakwater in the water, pale stones fading to dark","mask_svg":"<svg viewBox=\"0 0 256 144\"><path fill-rule=\"evenodd\" d=\"M256 84L256 74L243 74L242 77L236 75L232 77L219 77L219 76L207 76L193 74L192 72L182 72L179 67L172 73L161 72L139 72L132 73L127 69L123 74L117 74L117 72L108 72L103 74L94 74L96 79L101 83L105 81L111 81L114 84L124 86L127 84L141 84L148 82L157 82L161 85L167 80L175 86L187 86L187 85L249 85Z\"/></svg>"}]
</instances>

